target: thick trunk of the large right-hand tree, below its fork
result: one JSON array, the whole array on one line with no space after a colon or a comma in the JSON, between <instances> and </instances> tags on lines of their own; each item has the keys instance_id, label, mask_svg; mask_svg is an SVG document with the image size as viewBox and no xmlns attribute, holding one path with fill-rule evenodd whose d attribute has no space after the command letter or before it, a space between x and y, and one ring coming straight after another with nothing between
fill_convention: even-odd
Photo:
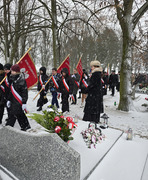
<instances>
[{"instance_id":1,"label":"thick trunk of the large right-hand tree, below its fork","mask_svg":"<svg viewBox=\"0 0 148 180\"><path fill-rule=\"evenodd\" d=\"M133 107L131 99L131 44L130 44L130 24L126 24L123 30L123 54L120 71L120 102L118 109L122 111L129 111Z\"/></svg>"}]
</instances>

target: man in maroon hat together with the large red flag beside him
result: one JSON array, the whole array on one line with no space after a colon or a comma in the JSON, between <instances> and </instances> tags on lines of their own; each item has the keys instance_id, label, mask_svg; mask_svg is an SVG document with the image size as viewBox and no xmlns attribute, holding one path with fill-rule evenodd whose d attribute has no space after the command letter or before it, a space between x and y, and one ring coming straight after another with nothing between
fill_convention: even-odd
<instances>
[{"instance_id":1,"label":"man in maroon hat together with the large red flag beside him","mask_svg":"<svg viewBox=\"0 0 148 180\"><path fill-rule=\"evenodd\" d=\"M13 127L17 119L23 131L30 128L30 124L24 113L24 111L27 112L28 89L38 82L36 68L29 54L30 50L31 48L17 64L11 67L10 81L8 82L10 92L7 107L10 108L10 118L6 125ZM6 80L6 78L7 76L2 81Z\"/></svg>"}]
</instances>

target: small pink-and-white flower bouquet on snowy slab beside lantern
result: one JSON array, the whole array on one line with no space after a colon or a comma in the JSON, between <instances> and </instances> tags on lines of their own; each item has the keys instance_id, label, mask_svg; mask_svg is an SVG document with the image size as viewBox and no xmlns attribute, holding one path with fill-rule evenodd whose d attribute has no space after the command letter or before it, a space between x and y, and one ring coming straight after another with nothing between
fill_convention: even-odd
<instances>
[{"instance_id":1,"label":"small pink-and-white flower bouquet on snowy slab beside lantern","mask_svg":"<svg viewBox=\"0 0 148 180\"><path fill-rule=\"evenodd\" d=\"M89 127L81 132L84 142L88 148L93 145L96 148L96 144L105 139L105 135L102 134L101 129L96 128L96 124L90 123Z\"/></svg>"}]
</instances>

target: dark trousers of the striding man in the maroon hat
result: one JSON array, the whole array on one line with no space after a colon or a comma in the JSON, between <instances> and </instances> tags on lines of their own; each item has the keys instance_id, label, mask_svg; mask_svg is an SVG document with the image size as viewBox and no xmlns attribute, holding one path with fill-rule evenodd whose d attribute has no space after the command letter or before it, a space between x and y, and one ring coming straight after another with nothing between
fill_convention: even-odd
<instances>
[{"instance_id":1,"label":"dark trousers of the striding man in the maroon hat","mask_svg":"<svg viewBox=\"0 0 148 180\"><path fill-rule=\"evenodd\" d=\"M21 114L11 114L10 118L8 119L6 126L14 126L16 119L18 120L18 123L21 127L21 130L27 130L30 128L29 121L25 115L25 113L22 111Z\"/></svg>"}]
</instances>

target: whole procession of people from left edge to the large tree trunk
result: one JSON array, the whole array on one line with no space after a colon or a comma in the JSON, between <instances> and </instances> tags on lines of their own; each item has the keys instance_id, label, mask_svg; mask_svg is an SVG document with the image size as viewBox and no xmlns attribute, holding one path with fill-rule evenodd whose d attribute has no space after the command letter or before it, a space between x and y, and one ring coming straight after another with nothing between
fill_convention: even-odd
<instances>
[{"instance_id":1,"label":"whole procession of people from left edge to the large tree trunk","mask_svg":"<svg viewBox=\"0 0 148 180\"><path fill-rule=\"evenodd\" d=\"M117 85L117 76L113 71L108 77L102 73L102 67L99 61L94 60L90 63L91 72L88 75L85 69L80 75L77 69L73 74L69 74L67 68L63 68L61 73L57 73L56 68L52 68L52 74L46 74L46 68L39 69L37 90L40 91L40 97L37 101L37 111L41 111L44 104L48 102L47 92L50 90L52 95L51 106L59 108L58 98L61 96L62 112L69 112L69 98L73 105L77 104L77 93L81 98L81 106L84 107L84 121L100 121L100 113L103 112L103 95L107 94L107 86L110 85L112 95L114 87ZM2 81L5 78L4 81ZM2 123L4 108L8 112L6 125L14 126L16 120L21 130L30 129L29 121L25 115L26 103L28 100L28 89L25 76L20 72L18 64L0 64L0 124Z\"/></svg>"}]
</instances>

